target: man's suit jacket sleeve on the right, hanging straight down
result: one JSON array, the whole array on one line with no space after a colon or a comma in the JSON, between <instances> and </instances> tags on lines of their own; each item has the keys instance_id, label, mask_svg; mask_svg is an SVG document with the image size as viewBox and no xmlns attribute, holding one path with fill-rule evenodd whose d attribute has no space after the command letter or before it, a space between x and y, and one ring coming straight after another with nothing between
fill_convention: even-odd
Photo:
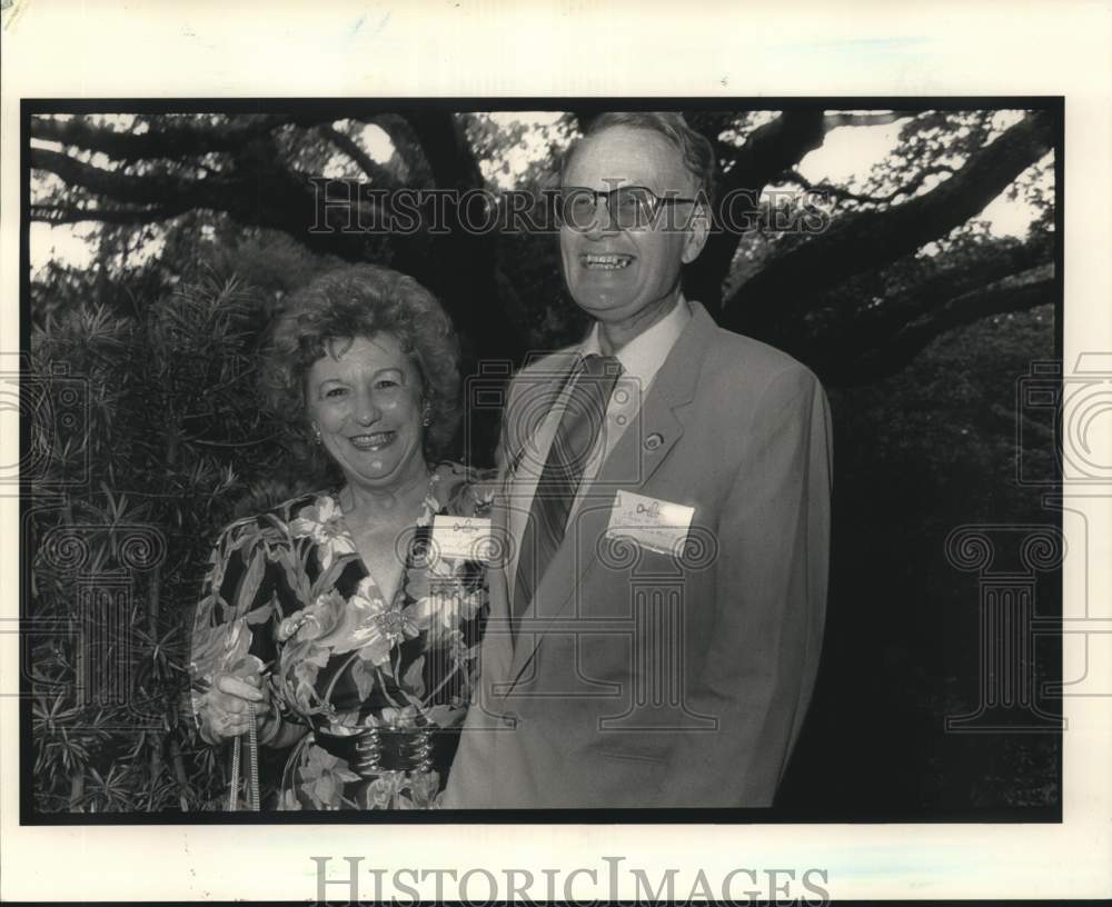
<instances>
[{"instance_id":1,"label":"man's suit jacket sleeve on the right, hanging straight down","mask_svg":"<svg viewBox=\"0 0 1112 907\"><path fill-rule=\"evenodd\" d=\"M717 528L715 610L688 709L716 719L671 754L667 806L770 806L814 687L826 614L831 418L802 367L754 411Z\"/></svg>"}]
</instances>

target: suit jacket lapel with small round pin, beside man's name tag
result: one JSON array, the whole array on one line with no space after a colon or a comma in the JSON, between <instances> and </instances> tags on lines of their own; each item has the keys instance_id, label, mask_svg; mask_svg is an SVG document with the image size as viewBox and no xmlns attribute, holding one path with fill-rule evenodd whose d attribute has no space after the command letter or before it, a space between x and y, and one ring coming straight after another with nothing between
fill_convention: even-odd
<instances>
[{"instance_id":1,"label":"suit jacket lapel with small round pin, beside man's name tag","mask_svg":"<svg viewBox=\"0 0 1112 907\"><path fill-rule=\"evenodd\" d=\"M583 588L583 580L594 569L598 560L597 542L609 521L615 492L619 488L636 490L644 486L683 435L684 408L696 396L703 351L717 330L703 306L692 302L692 320L661 366L642 405L639 426L635 420L598 476L588 484L584 504L572 517L574 528L569 527L537 586L534 601L522 615L535 626L518 635L512 679L519 678L528 667L550 624L567 610L573 592ZM537 615L537 599L552 601L555 607Z\"/></svg>"}]
</instances>

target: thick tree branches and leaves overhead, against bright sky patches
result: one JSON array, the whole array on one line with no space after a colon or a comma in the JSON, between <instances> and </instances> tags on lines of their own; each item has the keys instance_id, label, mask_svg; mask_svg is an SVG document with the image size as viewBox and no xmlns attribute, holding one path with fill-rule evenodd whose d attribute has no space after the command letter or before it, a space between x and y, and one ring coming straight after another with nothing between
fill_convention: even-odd
<instances>
[{"instance_id":1,"label":"thick tree branches and leaves overhead, against bright sky patches","mask_svg":"<svg viewBox=\"0 0 1112 907\"><path fill-rule=\"evenodd\" d=\"M126 236L149 225L172 232L189 223L196 232L193 217L225 245L230 222L248 242L277 231L315 256L388 263L441 298L477 357L520 360L578 323L563 299L552 236L434 233L424 209L418 229L404 235L310 231L319 216L314 180L329 172L383 190L468 190L506 188L508 175L516 188L537 188L588 117L569 111L540 126L507 124L428 106L344 119L324 108L36 116L31 217L96 221ZM718 198L748 199L753 210L735 206L733 220L749 213L754 226L714 232L687 269L688 295L726 327L793 352L827 383L891 375L944 331L1054 299L1051 111L800 104L688 119L717 155ZM836 131L881 124L898 124L898 141L870 172L818 185L801 173ZM388 140L388 157L368 147L369 127ZM529 166L510 168L525 149ZM823 229L776 229L777 207L804 190L830 199ZM996 237L977 220L1003 193L1036 211L1023 240ZM449 221L460 213L447 210Z\"/></svg>"}]
</instances>

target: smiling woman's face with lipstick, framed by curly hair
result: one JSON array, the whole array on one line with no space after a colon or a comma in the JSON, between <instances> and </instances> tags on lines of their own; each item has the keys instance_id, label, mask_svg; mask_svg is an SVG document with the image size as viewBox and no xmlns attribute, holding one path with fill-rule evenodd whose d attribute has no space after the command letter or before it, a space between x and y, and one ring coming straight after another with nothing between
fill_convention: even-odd
<instances>
[{"instance_id":1,"label":"smiling woman's face with lipstick, framed by curly hair","mask_svg":"<svg viewBox=\"0 0 1112 907\"><path fill-rule=\"evenodd\" d=\"M393 333L335 345L306 376L309 421L351 485L400 487L424 474L420 375Z\"/></svg>"}]
</instances>

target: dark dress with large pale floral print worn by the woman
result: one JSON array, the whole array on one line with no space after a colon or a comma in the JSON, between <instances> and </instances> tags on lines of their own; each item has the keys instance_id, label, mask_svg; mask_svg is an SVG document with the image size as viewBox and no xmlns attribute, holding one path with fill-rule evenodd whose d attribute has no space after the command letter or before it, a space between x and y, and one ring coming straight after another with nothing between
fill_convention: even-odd
<instances>
[{"instance_id":1,"label":"dark dress with large pale floral print worn by the woman","mask_svg":"<svg viewBox=\"0 0 1112 907\"><path fill-rule=\"evenodd\" d=\"M277 808L435 805L475 679L487 595L480 564L429 557L430 526L436 515L486 516L489 504L474 472L439 466L390 601L356 551L336 491L221 534L193 624L193 709L218 672L266 678L276 711L306 728ZM408 758L391 760L388 740L403 741Z\"/></svg>"}]
</instances>

